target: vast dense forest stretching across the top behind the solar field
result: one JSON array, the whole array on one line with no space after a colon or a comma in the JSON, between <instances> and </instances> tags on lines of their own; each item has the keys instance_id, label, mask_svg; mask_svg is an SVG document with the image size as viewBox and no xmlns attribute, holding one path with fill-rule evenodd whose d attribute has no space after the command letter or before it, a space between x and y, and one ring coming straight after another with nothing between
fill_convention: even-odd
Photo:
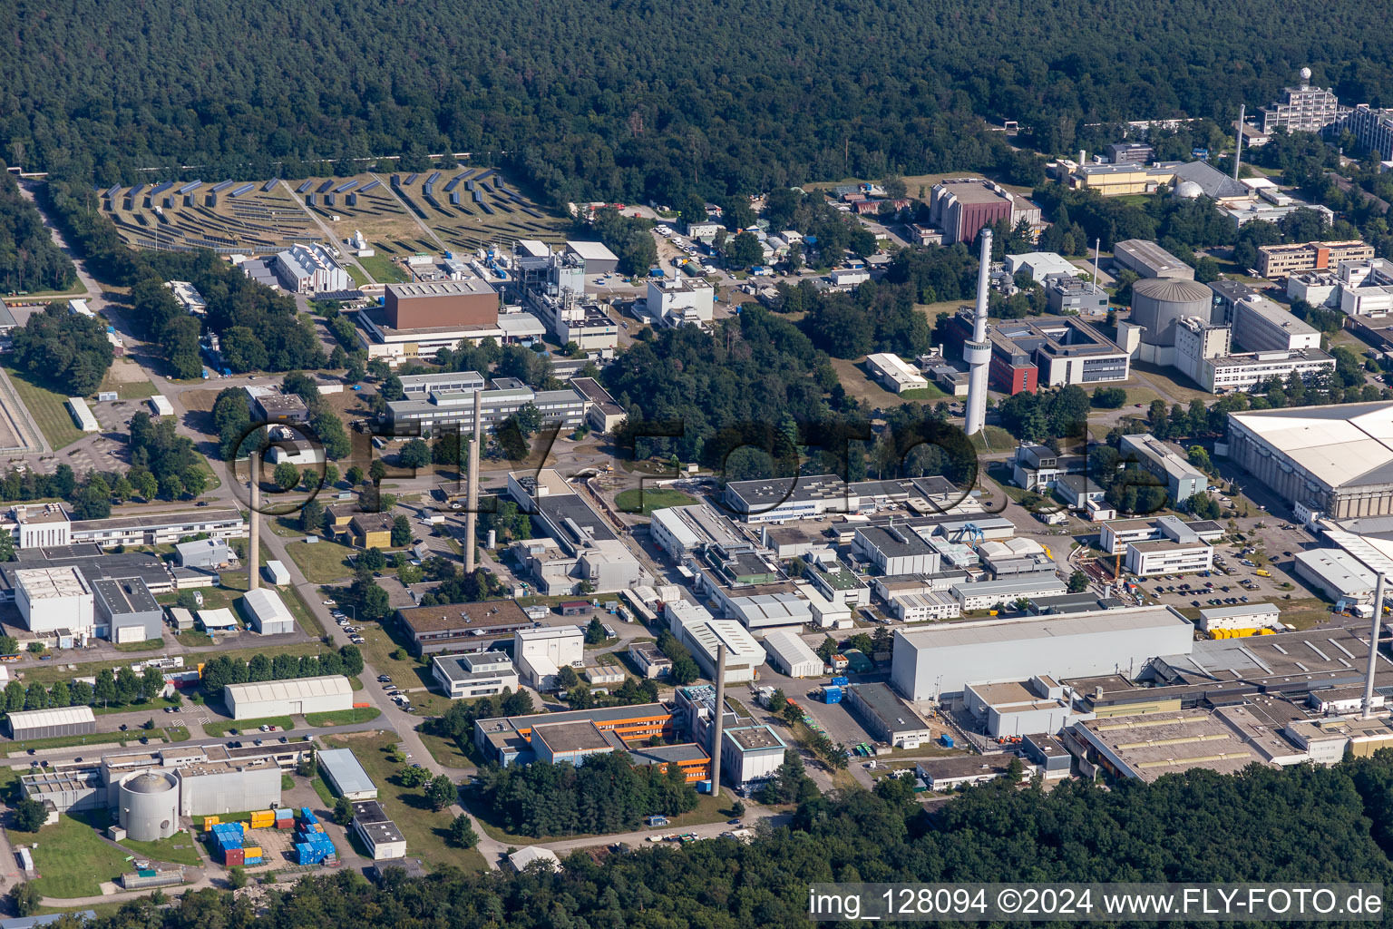
<instances>
[{"instance_id":1,"label":"vast dense forest stretching across the top behind the solar field","mask_svg":"<svg viewBox=\"0 0 1393 929\"><path fill-rule=\"evenodd\" d=\"M14 36L0 146L13 164L71 160L102 184L149 180L142 167L295 177L320 159L411 167L457 150L503 157L553 201L676 203L1009 167L983 118L1018 120L1055 153L1088 145L1091 124L1227 121L1302 64L1347 102L1387 103L1393 60L1365 14L1351 0L195 0L138 13L25 0L0 13Z\"/></svg>"}]
</instances>

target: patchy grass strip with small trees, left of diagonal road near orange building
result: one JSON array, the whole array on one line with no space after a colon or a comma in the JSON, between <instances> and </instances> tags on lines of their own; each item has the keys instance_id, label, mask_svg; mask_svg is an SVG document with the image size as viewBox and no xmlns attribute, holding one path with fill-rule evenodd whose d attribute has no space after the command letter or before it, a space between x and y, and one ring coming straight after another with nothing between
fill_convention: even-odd
<instances>
[{"instance_id":1,"label":"patchy grass strip with small trees, left of diagonal road near orange building","mask_svg":"<svg viewBox=\"0 0 1393 929\"><path fill-rule=\"evenodd\" d=\"M378 786L378 802L397 823L411 854L430 865L454 865L461 871L485 871L483 855L472 848L447 845L444 837L454 819L450 811L435 812L425 799L425 791L403 787L400 774L404 763L387 760L387 752L397 745L391 733L345 733L329 735L325 745L351 748L368 777Z\"/></svg>"}]
</instances>

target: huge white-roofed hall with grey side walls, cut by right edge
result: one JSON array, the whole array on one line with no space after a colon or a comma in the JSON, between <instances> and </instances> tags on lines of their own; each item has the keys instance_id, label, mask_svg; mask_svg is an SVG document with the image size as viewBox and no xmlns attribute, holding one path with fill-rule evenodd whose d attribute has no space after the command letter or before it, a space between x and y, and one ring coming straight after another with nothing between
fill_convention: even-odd
<instances>
[{"instance_id":1,"label":"huge white-roofed hall with grey side walls, cut by right edge","mask_svg":"<svg viewBox=\"0 0 1393 929\"><path fill-rule=\"evenodd\" d=\"M1227 439L1229 457L1300 520L1393 514L1393 403L1231 412Z\"/></svg>"}]
</instances>

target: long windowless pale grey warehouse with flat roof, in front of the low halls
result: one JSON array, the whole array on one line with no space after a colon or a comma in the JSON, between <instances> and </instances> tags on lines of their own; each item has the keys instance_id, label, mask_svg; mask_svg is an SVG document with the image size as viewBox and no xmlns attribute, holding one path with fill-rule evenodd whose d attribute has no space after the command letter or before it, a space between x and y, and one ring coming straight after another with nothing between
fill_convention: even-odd
<instances>
[{"instance_id":1,"label":"long windowless pale grey warehouse with flat roof, in front of the low halls","mask_svg":"<svg viewBox=\"0 0 1393 929\"><path fill-rule=\"evenodd\" d=\"M1169 606L897 630L890 682L905 699L931 701L975 681L1133 677L1148 659L1190 655L1194 632L1194 623Z\"/></svg>"}]
</instances>

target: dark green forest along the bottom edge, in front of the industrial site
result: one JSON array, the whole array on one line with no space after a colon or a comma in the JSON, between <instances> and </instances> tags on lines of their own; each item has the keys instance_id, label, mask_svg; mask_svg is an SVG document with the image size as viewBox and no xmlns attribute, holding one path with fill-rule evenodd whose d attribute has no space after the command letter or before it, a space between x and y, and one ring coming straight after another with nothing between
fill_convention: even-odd
<instances>
[{"instance_id":1,"label":"dark green forest along the bottom edge, in front of the industrial site","mask_svg":"<svg viewBox=\"0 0 1393 929\"><path fill-rule=\"evenodd\" d=\"M559 873L449 868L380 886L351 872L267 898L196 891L95 929L744 929L804 928L812 882L1393 882L1393 754L1336 767L1205 770L1112 790L1004 781L925 813L908 786L807 795L755 840L638 848ZM1312 840L1318 836L1318 840ZM265 900L265 903L262 903ZM265 910L262 907L265 905ZM1148 925L1148 923L1133 923ZM1172 922L1172 926L1208 925ZM1343 923L1355 925L1355 923ZM1358 925L1378 925L1358 923Z\"/></svg>"}]
</instances>

